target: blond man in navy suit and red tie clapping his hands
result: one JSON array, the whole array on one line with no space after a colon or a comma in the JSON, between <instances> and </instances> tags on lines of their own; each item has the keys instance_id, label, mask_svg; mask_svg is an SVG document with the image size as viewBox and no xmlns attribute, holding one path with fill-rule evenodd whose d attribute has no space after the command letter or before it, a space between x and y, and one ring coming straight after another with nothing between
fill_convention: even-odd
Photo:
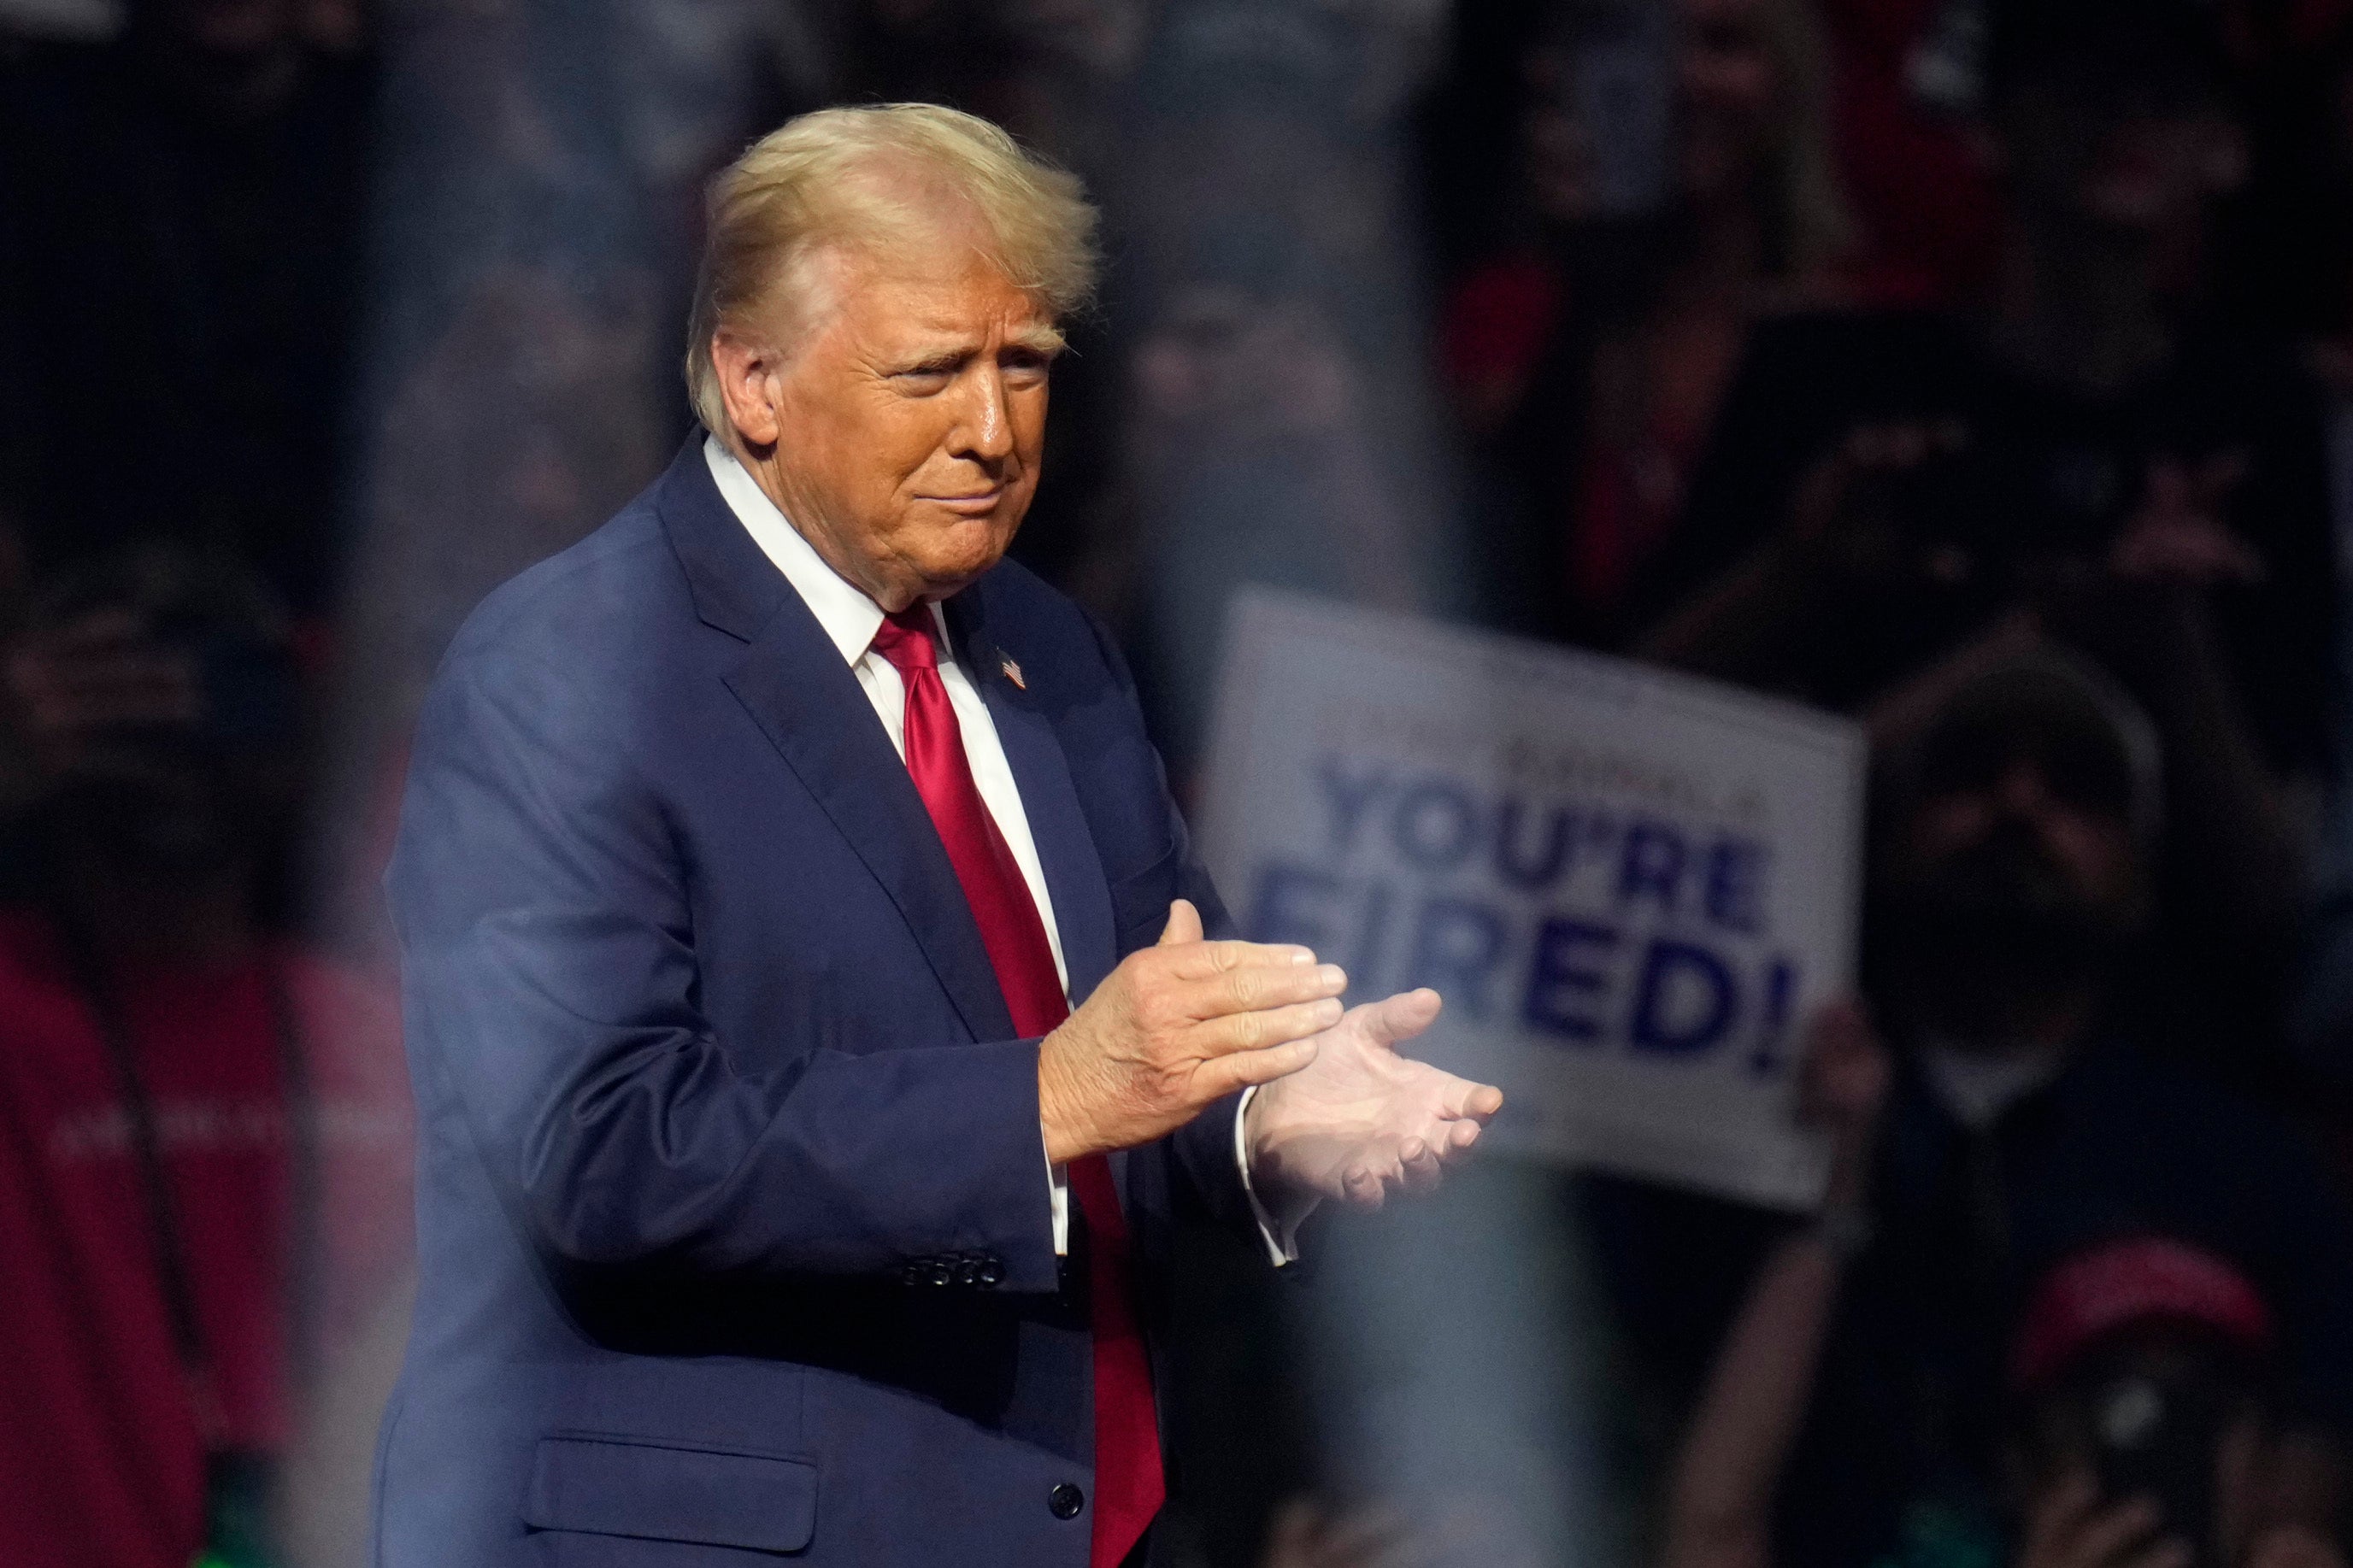
<instances>
[{"instance_id":1,"label":"blond man in navy suit and red tie clapping his hands","mask_svg":"<svg viewBox=\"0 0 2353 1568\"><path fill-rule=\"evenodd\" d=\"M795 120L713 188L708 437L459 632L384 1568L1141 1561L1169 1227L1282 1260L1501 1105L1391 1048L1433 992L1228 940L1115 649L1002 562L1089 280L995 127Z\"/></svg>"}]
</instances>

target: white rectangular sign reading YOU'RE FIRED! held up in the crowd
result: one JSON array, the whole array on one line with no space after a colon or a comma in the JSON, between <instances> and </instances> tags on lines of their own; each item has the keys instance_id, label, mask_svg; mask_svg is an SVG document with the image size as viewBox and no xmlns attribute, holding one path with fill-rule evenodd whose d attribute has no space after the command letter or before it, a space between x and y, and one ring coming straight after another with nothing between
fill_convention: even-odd
<instances>
[{"instance_id":1,"label":"white rectangular sign reading YOU'RE FIRED! held up in the crowd","mask_svg":"<svg viewBox=\"0 0 2353 1568\"><path fill-rule=\"evenodd\" d=\"M1864 736L1619 658L1245 590L1200 839L1235 919L1435 985L1504 1147L1819 1201L1802 1025L1854 983Z\"/></svg>"}]
</instances>

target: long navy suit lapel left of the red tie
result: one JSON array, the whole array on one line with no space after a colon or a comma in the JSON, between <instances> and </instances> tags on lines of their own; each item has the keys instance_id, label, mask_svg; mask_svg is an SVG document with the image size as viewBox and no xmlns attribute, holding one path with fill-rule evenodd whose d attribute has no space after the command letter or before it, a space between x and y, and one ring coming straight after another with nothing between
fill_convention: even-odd
<instances>
[{"instance_id":1,"label":"long navy suit lapel left of the red tie","mask_svg":"<svg viewBox=\"0 0 2353 1568\"><path fill-rule=\"evenodd\" d=\"M1009 1039L981 929L915 780L840 649L727 510L699 442L671 465L659 505L696 614L751 644L727 689L899 905L972 1037Z\"/></svg>"}]
</instances>

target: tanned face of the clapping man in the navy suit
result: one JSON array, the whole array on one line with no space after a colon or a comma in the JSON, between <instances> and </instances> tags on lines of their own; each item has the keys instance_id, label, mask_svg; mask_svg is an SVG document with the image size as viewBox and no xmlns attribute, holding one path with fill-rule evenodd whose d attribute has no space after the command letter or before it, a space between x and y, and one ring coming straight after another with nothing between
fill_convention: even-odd
<instances>
[{"instance_id":1,"label":"tanned face of the clapping man in the navy suit","mask_svg":"<svg viewBox=\"0 0 2353 1568\"><path fill-rule=\"evenodd\" d=\"M744 456L816 552L882 609L1005 555L1045 454L1052 320L953 228L887 259L812 259L784 350L720 336ZM762 357L767 355L767 357Z\"/></svg>"}]
</instances>

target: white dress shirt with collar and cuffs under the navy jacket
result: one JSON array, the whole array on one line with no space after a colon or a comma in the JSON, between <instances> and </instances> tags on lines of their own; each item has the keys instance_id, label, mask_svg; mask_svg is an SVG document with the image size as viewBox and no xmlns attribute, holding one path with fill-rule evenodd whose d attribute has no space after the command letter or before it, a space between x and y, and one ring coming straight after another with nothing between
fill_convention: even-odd
<instances>
[{"instance_id":1,"label":"white dress shirt with collar and cuffs under the navy jacket","mask_svg":"<svg viewBox=\"0 0 2353 1568\"><path fill-rule=\"evenodd\" d=\"M711 465L711 480L720 487L727 508L751 534L753 543L760 545L760 552L784 574L784 581L793 585L800 602L809 607L809 614L816 616L816 625L840 651L849 672L859 677L866 701L873 703L875 717L882 719L882 733L889 736L892 750L904 762L906 682L892 661L873 651L875 632L882 628L882 607L826 564L816 545L800 536L800 529L776 510L776 503L767 498L760 482L744 470L718 437L704 437L704 461ZM1064 999L1071 999L1071 966L1061 957L1061 931L1054 926L1054 896L1045 886L1045 865L1038 860L1038 839L1031 835L1028 811L1021 806L1021 785L1014 783L1014 769L1005 759L1005 745L998 741L995 719L988 717L988 703L981 701L979 686L972 684L972 677L955 661L955 649L948 642L948 623L939 614L939 604L932 607L932 628L939 649L939 684L948 689L948 705L955 708L955 729L965 741L965 762L972 766L972 783L981 792L988 816L995 818L998 832L1005 835L1005 846L1014 853L1014 865L1021 867L1021 882L1028 884L1031 900L1038 905L1038 922L1045 926L1045 943L1054 950L1054 978L1061 980ZM1242 1103L1233 1117L1233 1159L1242 1171L1242 1190L1249 1194L1249 1211L1259 1220L1266 1251L1280 1265L1292 1262L1299 1251L1292 1237L1275 1232L1249 1182L1249 1150L1242 1140L1242 1117L1249 1110L1252 1093L1257 1091L1242 1093ZM1045 1131L1040 1128L1042 1135ZM1061 1166L1047 1166L1047 1190L1054 1211L1054 1251L1068 1253L1071 1187Z\"/></svg>"}]
</instances>

